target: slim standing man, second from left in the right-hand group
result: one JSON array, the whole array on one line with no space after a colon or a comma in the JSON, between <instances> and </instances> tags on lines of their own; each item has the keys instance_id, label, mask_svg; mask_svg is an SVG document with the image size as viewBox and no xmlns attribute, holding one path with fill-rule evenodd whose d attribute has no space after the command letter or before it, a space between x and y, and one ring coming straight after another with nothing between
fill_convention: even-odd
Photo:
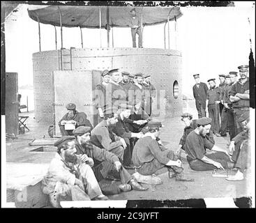
<instances>
[{"instance_id":1,"label":"slim standing man, second from left in the right-hand group","mask_svg":"<svg viewBox=\"0 0 256 223\"><path fill-rule=\"evenodd\" d=\"M216 136L220 136L220 89L216 87L215 79L208 80L210 89L207 91L209 118L212 119L211 130Z\"/></svg>"}]
</instances>

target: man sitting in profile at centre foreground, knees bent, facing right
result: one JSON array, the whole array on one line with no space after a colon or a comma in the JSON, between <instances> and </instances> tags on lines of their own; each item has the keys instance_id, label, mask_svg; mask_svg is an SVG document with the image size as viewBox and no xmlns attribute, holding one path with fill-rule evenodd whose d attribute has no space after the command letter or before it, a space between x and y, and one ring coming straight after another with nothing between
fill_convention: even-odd
<instances>
[{"instance_id":1,"label":"man sitting in profile at centre foreground, knees bent, facing right","mask_svg":"<svg viewBox=\"0 0 256 223\"><path fill-rule=\"evenodd\" d=\"M151 175L167 167L170 178L175 177L179 181L194 181L184 176L181 160L170 149L160 146L156 141L156 137L160 135L161 126L160 122L149 121L144 128L144 131L148 130L148 132L135 144L133 164L137 167L137 171L142 175Z\"/></svg>"}]
</instances>

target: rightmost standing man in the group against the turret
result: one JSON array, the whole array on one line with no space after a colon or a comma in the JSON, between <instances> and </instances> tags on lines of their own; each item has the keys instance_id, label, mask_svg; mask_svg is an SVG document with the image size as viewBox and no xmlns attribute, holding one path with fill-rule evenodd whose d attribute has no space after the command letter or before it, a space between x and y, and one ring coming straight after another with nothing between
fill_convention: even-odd
<instances>
[{"instance_id":1,"label":"rightmost standing man in the group against the turret","mask_svg":"<svg viewBox=\"0 0 256 223\"><path fill-rule=\"evenodd\" d=\"M144 74L144 98L145 98L145 112L149 116L152 114L152 103L156 98L156 88L151 84L151 75L149 73Z\"/></svg>"}]
</instances>

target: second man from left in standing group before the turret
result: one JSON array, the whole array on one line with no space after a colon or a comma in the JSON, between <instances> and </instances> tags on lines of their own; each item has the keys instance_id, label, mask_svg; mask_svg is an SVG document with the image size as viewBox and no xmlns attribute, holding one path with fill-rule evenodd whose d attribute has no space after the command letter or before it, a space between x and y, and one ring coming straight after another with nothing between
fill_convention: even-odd
<instances>
[{"instance_id":1,"label":"second man from left in standing group before the turret","mask_svg":"<svg viewBox=\"0 0 256 223\"><path fill-rule=\"evenodd\" d=\"M119 84L121 82L121 72L119 72L119 69L110 70L110 76L111 96L107 98L111 100L111 107L118 107L120 104L126 103L128 95L123 86Z\"/></svg>"}]
</instances>

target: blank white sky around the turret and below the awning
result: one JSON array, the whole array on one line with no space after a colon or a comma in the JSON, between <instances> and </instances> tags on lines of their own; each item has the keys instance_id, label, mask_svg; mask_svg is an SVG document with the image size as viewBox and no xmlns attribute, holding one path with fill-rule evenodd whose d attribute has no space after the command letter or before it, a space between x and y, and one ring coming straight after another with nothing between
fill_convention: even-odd
<instances>
[{"instance_id":1,"label":"blank white sky around the turret and below the awning","mask_svg":"<svg viewBox=\"0 0 256 223\"><path fill-rule=\"evenodd\" d=\"M18 72L18 86L33 86L32 54L39 51L38 23L27 13L28 5L19 6L6 20L6 72ZM182 91L193 95L193 74L199 73L202 82L218 79L219 74L238 71L248 64L249 36L255 49L255 3L235 1L235 7L181 7L183 16L170 22L170 48L182 54ZM248 23L250 18L250 26ZM41 24L41 50L55 49L54 26ZM166 29L167 30L167 29ZM132 47L129 28L114 28L114 47ZM82 29L84 47L100 47L98 29ZM60 29L57 27L58 49ZM102 44L107 47L107 32L102 30ZM112 36L112 34L110 34ZM176 41L175 41L176 40ZM146 26L144 48L164 48L164 24ZM112 40L110 40L112 47ZM63 28L63 47L81 47L80 29ZM255 52L254 52L255 55ZM218 83L217 83L218 84Z\"/></svg>"}]
</instances>

